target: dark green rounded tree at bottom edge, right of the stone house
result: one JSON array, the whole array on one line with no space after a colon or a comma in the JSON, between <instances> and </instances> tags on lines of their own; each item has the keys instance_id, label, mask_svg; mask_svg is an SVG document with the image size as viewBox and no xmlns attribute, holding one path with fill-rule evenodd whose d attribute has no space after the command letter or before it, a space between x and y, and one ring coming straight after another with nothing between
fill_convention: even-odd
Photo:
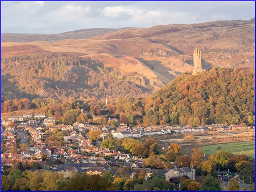
<instances>
[{"instance_id":1,"label":"dark green rounded tree at bottom edge, right of the stone house","mask_svg":"<svg viewBox=\"0 0 256 192\"><path fill-rule=\"evenodd\" d=\"M207 175L201 185L200 190L203 191L221 191L220 181L214 179L211 175Z\"/></svg>"}]
</instances>

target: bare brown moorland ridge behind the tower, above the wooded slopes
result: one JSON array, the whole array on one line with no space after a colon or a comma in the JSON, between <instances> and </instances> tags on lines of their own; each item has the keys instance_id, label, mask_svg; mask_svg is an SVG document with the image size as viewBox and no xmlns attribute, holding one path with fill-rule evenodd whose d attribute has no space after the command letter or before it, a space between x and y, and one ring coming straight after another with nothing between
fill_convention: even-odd
<instances>
[{"instance_id":1,"label":"bare brown moorland ridge behind the tower, above the wooded slopes","mask_svg":"<svg viewBox=\"0 0 256 192\"><path fill-rule=\"evenodd\" d=\"M78 38L77 34L82 31L84 32L71 32ZM99 31L104 32L102 29ZM62 37L67 34L71 37L70 32L62 33ZM88 59L102 64L100 67L108 69L117 79L123 78L122 80L130 83L132 80L132 86L144 87L142 90L147 90L148 94L182 73L191 72L196 46L202 52L203 69L254 68L254 34L255 19L157 25L151 28L115 29L114 32L105 31L100 35L94 33L96 36L87 39L63 39L55 42L2 41L1 56L3 61L23 55L62 53L78 60Z\"/></svg>"}]
</instances>

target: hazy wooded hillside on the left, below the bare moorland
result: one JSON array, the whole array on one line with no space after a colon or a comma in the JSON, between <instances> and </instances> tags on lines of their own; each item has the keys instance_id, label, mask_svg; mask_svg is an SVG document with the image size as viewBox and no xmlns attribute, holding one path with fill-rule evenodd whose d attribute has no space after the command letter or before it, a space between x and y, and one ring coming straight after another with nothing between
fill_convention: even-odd
<instances>
[{"instance_id":1,"label":"hazy wooded hillside on the left, below the bare moorland","mask_svg":"<svg viewBox=\"0 0 256 192\"><path fill-rule=\"evenodd\" d=\"M145 96L152 89L147 79L126 78L99 61L64 53L4 57L1 64L2 100Z\"/></svg>"}]
</instances>

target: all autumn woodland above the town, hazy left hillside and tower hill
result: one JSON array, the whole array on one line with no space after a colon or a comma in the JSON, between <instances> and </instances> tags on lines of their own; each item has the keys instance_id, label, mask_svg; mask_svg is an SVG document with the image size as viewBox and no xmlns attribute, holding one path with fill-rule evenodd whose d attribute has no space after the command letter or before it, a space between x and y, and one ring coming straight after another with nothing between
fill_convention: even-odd
<instances>
[{"instance_id":1,"label":"all autumn woodland above the town, hazy left hillside and tower hill","mask_svg":"<svg viewBox=\"0 0 256 192\"><path fill-rule=\"evenodd\" d=\"M254 125L254 72L248 68L185 72L150 94L150 85L138 85L88 58L51 52L4 57L1 112L34 108L63 124L92 122L93 116L101 116L102 125L109 124L109 117L130 126Z\"/></svg>"}]
</instances>

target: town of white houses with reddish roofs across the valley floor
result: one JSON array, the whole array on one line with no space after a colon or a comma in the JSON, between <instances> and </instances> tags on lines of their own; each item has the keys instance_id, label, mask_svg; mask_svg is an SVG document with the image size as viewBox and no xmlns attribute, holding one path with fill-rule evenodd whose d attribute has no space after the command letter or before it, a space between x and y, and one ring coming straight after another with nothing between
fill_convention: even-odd
<instances>
[{"instance_id":1,"label":"town of white houses with reddish roofs across the valley floor","mask_svg":"<svg viewBox=\"0 0 256 192\"><path fill-rule=\"evenodd\" d=\"M97 117L94 119L97 120ZM109 118L118 121L117 118ZM138 168L143 167L141 157L131 156L124 151L116 151L100 147L101 142L108 138L142 138L149 135L165 135L175 133L197 133L209 130L215 131L246 131L245 125L201 125L190 126L150 126L128 127L121 123L115 128L110 125L102 126L89 123L74 123L73 125L55 125L55 119L45 114L26 114L20 117L8 117L2 121L2 142L6 150L1 154L2 168L14 166L17 163L36 162L45 170L65 172L65 178L70 177L71 171L86 172L89 174L102 174L111 170L111 166ZM99 131L97 140L87 136L89 131ZM60 142L53 140L44 142L49 138L49 132L60 136ZM29 140L29 141L28 141ZM17 141L20 149L17 149ZM56 145L56 144L59 145ZM19 152L18 152L19 151ZM105 160L104 156L111 156ZM46 158L57 161L55 167L46 162ZM66 166L67 165L67 166ZM2 172L4 170L2 169ZM189 169L188 173L191 172ZM170 176L168 176L170 177ZM192 176L192 178L194 178ZM168 179L167 179L168 180Z\"/></svg>"}]
</instances>

